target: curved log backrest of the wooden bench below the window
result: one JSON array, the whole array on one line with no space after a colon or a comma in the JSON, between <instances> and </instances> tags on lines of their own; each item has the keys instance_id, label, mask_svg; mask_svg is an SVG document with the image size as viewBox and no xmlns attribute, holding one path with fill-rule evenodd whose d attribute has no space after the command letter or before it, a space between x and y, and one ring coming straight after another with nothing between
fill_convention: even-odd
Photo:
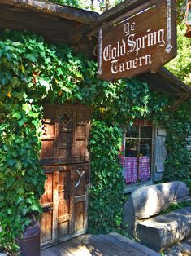
<instances>
[{"instance_id":1,"label":"curved log backrest of the wooden bench below the window","mask_svg":"<svg viewBox=\"0 0 191 256\"><path fill-rule=\"evenodd\" d=\"M173 202L189 198L189 188L181 181L137 188L124 204L124 223L128 224L128 234L137 237L136 226L142 219L160 213Z\"/></svg>"}]
</instances>

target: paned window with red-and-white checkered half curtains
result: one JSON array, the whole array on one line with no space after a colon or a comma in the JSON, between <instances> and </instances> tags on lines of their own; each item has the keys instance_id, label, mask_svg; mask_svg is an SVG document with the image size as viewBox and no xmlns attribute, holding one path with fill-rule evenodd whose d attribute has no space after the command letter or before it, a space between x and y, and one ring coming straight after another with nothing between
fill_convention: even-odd
<instances>
[{"instance_id":1,"label":"paned window with red-and-white checkered half curtains","mask_svg":"<svg viewBox=\"0 0 191 256\"><path fill-rule=\"evenodd\" d=\"M149 121L135 121L124 129L124 180L127 184L151 179L154 128Z\"/></svg>"}]
</instances>

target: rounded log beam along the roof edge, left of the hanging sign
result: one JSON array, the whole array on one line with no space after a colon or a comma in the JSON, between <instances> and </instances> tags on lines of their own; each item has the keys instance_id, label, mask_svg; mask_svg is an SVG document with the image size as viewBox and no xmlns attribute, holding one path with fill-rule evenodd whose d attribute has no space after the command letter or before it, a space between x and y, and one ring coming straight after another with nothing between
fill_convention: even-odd
<instances>
[{"instance_id":1,"label":"rounded log beam along the roof edge, left of the hanging sign","mask_svg":"<svg viewBox=\"0 0 191 256\"><path fill-rule=\"evenodd\" d=\"M27 8L32 11L39 11L84 24L95 24L98 20L98 13L96 12L80 10L74 7L65 7L52 2L42 2L40 0L0 0L0 4Z\"/></svg>"}]
</instances>

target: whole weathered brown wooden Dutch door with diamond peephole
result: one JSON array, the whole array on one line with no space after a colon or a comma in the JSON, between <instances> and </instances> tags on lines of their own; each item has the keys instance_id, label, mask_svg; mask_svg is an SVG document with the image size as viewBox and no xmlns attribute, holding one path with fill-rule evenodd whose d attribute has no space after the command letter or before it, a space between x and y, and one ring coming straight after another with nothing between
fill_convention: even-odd
<instances>
[{"instance_id":1,"label":"whole weathered brown wooden Dutch door with diamond peephole","mask_svg":"<svg viewBox=\"0 0 191 256\"><path fill-rule=\"evenodd\" d=\"M41 165L46 173L41 196L41 245L86 232L89 188L90 110L84 105L44 106Z\"/></svg>"}]
</instances>

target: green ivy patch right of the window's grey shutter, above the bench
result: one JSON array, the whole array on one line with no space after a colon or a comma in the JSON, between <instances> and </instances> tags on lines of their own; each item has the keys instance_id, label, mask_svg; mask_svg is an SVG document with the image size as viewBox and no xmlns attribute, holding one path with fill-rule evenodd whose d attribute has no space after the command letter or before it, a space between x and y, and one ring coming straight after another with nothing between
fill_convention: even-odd
<instances>
[{"instance_id":1,"label":"green ivy patch right of the window's grey shutter, above the bench","mask_svg":"<svg viewBox=\"0 0 191 256\"><path fill-rule=\"evenodd\" d=\"M189 166L191 159L187 150L188 141L183 138L183 135L188 136L191 132L191 104L190 101L184 104L178 111L164 117L166 119L165 126L168 136L167 145L167 160L166 172L164 173L165 180L180 179L184 180L190 188L191 173Z\"/></svg>"}]
</instances>

